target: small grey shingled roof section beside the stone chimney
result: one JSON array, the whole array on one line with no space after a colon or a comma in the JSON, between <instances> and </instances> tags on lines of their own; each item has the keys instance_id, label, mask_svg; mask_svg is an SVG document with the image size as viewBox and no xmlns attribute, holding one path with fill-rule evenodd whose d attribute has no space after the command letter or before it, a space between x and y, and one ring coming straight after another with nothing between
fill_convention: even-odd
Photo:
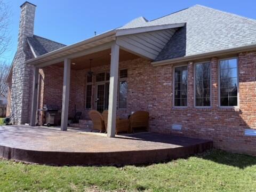
<instances>
[{"instance_id":1,"label":"small grey shingled roof section beside the stone chimney","mask_svg":"<svg viewBox=\"0 0 256 192\"><path fill-rule=\"evenodd\" d=\"M33 47L33 50L37 57L66 46L64 44L57 43L43 37L39 37L37 35L34 35L33 37L28 37L28 42Z\"/></svg>"}]
</instances>

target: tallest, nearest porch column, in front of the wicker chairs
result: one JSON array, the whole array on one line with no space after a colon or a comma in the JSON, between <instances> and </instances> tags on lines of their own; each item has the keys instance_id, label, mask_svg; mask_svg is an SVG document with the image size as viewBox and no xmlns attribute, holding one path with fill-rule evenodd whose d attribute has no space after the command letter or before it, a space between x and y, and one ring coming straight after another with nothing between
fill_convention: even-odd
<instances>
[{"instance_id":1,"label":"tallest, nearest porch column, in front of the wicker chairs","mask_svg":"<svg viewBox=\"0 0 256 192\"><path fill-rule=\"evenodd\" d=\"M116 102L118 86L119 45L111 45L109 104L108 104L108 137L115 137L116 133Z\"/></svg>"}]
</instances>

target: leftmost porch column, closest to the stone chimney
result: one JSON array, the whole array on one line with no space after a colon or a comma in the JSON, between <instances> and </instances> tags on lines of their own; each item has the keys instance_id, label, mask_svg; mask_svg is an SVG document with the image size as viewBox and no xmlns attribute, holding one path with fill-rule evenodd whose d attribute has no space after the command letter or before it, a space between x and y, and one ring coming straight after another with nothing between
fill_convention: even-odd
<instances>
[{"instance_id":1,"label":"leftmost porch column, closest to the stone chimney","mask_svg":"<svg viewBox=\"0 0 256 192\"><path fill-rule=\"evenodd\" d=\"M36 126L36 115L38 107L38 75L39 68L34 68L34 79L33 79L33 93L32 93L32 105L30 114L30 126Z\"/></svg>"}]
</instances>

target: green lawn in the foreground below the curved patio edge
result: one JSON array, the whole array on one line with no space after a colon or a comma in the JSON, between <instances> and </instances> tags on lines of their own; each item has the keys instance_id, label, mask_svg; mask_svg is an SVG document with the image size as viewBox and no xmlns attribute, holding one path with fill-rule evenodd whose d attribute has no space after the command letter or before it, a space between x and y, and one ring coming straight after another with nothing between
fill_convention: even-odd
<instances>
[{"instance_id":1,"label":"green lawn in the foreground below the curved patio edge","mask_svg":"<svg viewBox=\"0 0 256 192\"><path fill-rule=\"evenodd\" d=\"M212 150L148 166L27 165L0 160L0 191L256 191L256 157Z\"/></svg>"}]
</instances>

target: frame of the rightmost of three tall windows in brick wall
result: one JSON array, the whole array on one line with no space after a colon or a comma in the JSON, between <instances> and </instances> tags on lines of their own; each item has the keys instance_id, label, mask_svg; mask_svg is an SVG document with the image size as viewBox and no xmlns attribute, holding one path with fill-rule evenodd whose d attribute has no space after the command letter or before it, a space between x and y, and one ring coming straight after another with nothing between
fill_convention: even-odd
<instances>
[{"instance_id":1,"label":"frame of the rightmost of three tall windows in brick wall","mask_svg":"<svg viewBox=\"0 0 256 192\"><path fill-rule=\"evenodd\" d=\"M220 104L220 62L224 60L236 59L236 68L237 68L237 106L221 106ZM229 109L237 109L239 108L239 59L238 57L229 57L219 59L218 61L218 107L219 108L229 108Z\"/></svg>"}]
</instances>

